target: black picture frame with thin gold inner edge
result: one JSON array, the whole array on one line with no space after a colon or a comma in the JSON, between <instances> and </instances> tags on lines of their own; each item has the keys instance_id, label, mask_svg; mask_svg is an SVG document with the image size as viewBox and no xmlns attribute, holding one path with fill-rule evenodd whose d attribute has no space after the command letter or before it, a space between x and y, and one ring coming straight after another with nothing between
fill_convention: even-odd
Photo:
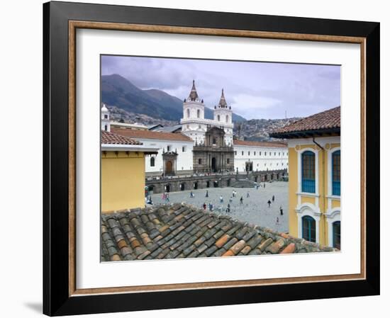
<instances>
[{"instance_id":1,"label":"black picture frame with thin gold inner edge","mask_svg":"<svg viewBox=\"0 0 390 318\"><path fill-rule=\"evenodd\" d=\"M77 289L75 52L79 29L359 44L360 274ZM379 23L52 1L43 5L43 40L44 314L379 295L379 168L367 169L379 167Z\"/></svg>"}]
</instances>

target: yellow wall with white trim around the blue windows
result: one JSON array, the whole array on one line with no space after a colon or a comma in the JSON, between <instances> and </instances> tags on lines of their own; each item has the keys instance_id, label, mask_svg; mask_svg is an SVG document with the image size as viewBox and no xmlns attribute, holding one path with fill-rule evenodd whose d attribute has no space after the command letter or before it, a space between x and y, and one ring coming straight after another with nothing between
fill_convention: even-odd
<instances>
[{"instance_id":1,"label":"yellow wall with white trim around the blue windows","mask_svg":"<svg viewBox=\"0 0 390 318\"><path fill-rule=\"evenodd\" d=\"M323 144L323 142L321 142L321 137L316 138L316 141L325 146L325 151L315 144L299 144L298 147L289 147L289 233L294 237L301 237L296 214L296 208L298 207L297 193L301 192L298 183L298 153L296 148L300 151L303 149L316 149L318 151L318 208L322 213L319 222L319 243L328 245L330 241L328 237L328 222L325 213L328 211L328 208L340 207L339 198L328 198L328 151L335 147L340 147L340 143ZM330 202L330 207L328 207L328 201ZM316 198L313 196L301 195L301 204L303 203L316 205Z\"/></svg>"}]
</instances>

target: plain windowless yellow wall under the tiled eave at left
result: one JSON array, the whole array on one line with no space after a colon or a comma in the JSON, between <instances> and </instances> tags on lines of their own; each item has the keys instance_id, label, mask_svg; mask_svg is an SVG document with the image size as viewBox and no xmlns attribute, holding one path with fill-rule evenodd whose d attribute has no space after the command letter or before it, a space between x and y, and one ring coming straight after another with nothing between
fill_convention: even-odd
<instances>
[{"instance_id":1,"label":"plain windowless yellow wall under the tiled eave at left","mask_svg":"<svg viewBox=\"0 0 390 318\"><path fill-rule=\"evenodd\" d=\"M101 153L101 211L145 206L143 152Z\"/></svg>"}]
</instances>

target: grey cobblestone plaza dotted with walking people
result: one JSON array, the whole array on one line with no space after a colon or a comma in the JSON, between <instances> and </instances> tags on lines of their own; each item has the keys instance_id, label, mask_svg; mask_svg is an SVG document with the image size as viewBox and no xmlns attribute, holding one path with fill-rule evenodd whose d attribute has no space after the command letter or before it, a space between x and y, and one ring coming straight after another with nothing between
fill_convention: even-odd
<instances>
[{"instance_id":1,"label":"grey cobblestone plaza dotted with walking people","mask_svg":"<svg viewBox=\"0 0 390 318\"><path fill-rule=\"evenodd\" d=\"M262 183L263 185L263 183ZM208 198L206 198L206 190L208 190ZM230 203L230 213L226 212L229 199L232 196L233 190L237 191L237 195ZM284 181L276 181L265 183L265 188L205 188L192 191L194 198L190 198L191 191L180 191L169 193L169 203L189 203L202 208L206 203L213 204L213 212L249 222L253 225L269 227L277 232L288 232L289 230L289 183ZM249 193L249 197L247 197ZM223 203L220 202L220 196L223 197ZM272 201L272 195L275 196L274 203L268 207L268 200ZM243 204L240 204L240 198L243 197ZM152 201L156 204L166 203L162 200L162 193L152 195ZM279 208L282 206L283 215L280 215ZM278 219L278 220L277 220ZM279 221L279 222L277 222Z\"/></svg>"}]
</instances>

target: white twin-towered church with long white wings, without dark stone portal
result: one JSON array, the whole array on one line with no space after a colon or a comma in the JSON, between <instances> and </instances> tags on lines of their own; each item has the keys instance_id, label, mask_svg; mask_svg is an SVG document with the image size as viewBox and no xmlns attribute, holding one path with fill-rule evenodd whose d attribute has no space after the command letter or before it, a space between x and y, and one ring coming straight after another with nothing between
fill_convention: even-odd
<instances>
[{"instance_id":1,"label":"white twin-towered church with long white wings, without dark stone portal","mask_svg":"<svg viewBox=\"0 0 390 318\"><path fill-rule=\"evenodd\" d=\"M205 142L206 131L218 127L225 132L225 145L233 146L234 172L273 171L289 169L288 148L282 142L251 142L233 139L233 110L222 94L218 106L214 107L213 120L204 118L205 103L199 98L195 81L188 98L183 103L181 132L158 132L133 129L131 125L116 125L110 120L108 108L101 108L101 130L113 131L143 142L144 147L155 147L156 155L145 157L147 177L189 176L194 171L193 148ZM233 172L233 171L232 171Z\"/></svg>"}]
</instances>

